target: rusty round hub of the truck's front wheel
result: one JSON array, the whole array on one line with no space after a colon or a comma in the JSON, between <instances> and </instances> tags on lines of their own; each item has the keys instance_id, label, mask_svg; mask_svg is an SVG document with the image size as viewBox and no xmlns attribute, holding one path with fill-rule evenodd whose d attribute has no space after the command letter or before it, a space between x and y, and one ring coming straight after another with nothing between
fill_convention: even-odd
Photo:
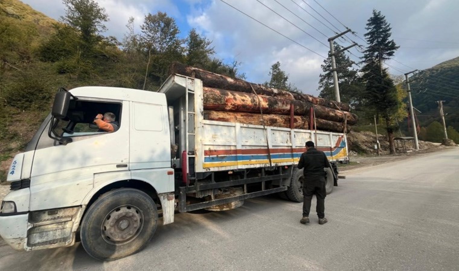
<instances>
[{"instance_id":1,"label":"rusty round hub of the truck's front wheel","mask_svg":"<svg viewBox=\"0 0 459 271\"><path fill-rule=\"evenodd\" d=\"M102 238L108 244L123 245L134 240L144 224L143 213L135 206L119 206L110 211L101 225Z\"/></svg>"}]
</instances>

